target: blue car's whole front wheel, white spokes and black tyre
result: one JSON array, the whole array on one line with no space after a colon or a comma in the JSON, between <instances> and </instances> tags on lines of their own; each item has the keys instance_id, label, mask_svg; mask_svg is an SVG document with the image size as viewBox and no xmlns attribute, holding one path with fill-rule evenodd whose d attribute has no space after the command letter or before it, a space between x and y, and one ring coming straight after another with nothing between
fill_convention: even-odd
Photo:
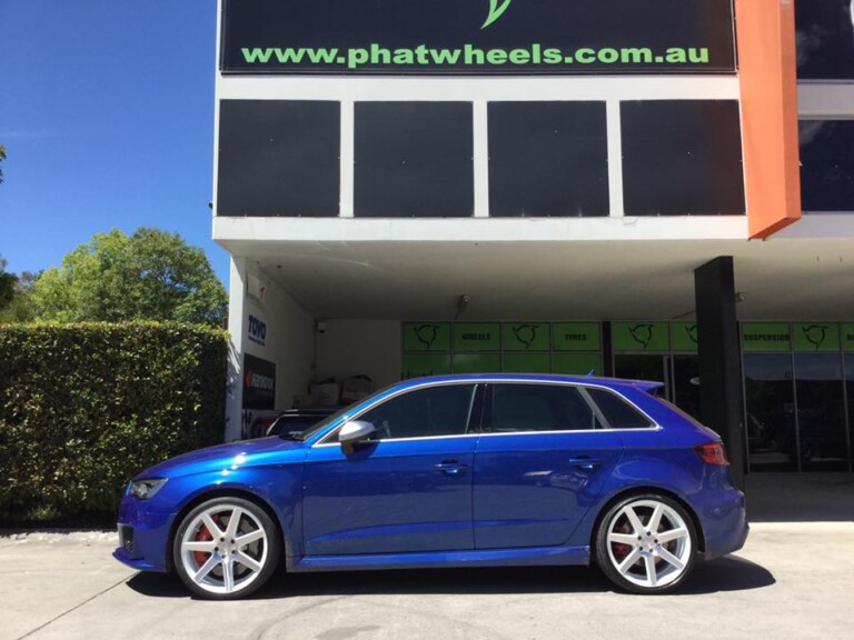
<instances>
[{"instance_id":1,"label":"blue car's whole front wheel, white spokes and black tyre","mask_svg":"<svg viewBox=\"0 0 854 640\"><path fill-rule=\"evenodd\" d=\"M264 509L240 498L215 498L181 520L172 559L197 596L236 600L270 578L279 547L276 526Z\"/></svg>"}]
</instances>

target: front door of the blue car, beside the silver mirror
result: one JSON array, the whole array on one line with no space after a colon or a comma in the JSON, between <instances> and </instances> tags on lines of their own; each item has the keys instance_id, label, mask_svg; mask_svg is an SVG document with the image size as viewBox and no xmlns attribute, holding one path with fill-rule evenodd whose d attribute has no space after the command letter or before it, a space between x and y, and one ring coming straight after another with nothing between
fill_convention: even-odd
<instances>
[{"instance_id":1,"label":"front door of the blue car, beside the silver mirror","mask_svg":"<svg viewBox=\"0 0 854 640\"><path fill-rule=\"evenodd\" d=\"M417 388L355 416L376 431L351 453L334 438L312 447L306 554L473 549L475 397L471 383Z\"/></svg>"}]
</instances>

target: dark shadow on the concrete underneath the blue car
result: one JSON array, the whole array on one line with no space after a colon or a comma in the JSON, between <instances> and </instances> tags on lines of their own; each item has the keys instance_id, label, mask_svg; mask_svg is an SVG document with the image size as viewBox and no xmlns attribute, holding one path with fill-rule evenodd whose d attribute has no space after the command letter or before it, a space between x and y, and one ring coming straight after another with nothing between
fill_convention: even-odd
<instances>
[{"instance_id":1,"label":"dark shadow on the concrete underneath the blue car","mask_svg":"<svg viewBox=\"0 0 854 640\"><path fill-rule=\"evenodd\" d=\"M774 584L771 572L747 560L728 556L698 563L689 582L676 596L761 589ZM189 598L177 577L138 573L128 587L152 598ZM311 596L363 594L506 594L590 593L613 591L610 582L595 568L516 567L484 569L418 569L401 571L350 571L329 573L280 572L254 600Z\"/></svg>"}]
</instances>

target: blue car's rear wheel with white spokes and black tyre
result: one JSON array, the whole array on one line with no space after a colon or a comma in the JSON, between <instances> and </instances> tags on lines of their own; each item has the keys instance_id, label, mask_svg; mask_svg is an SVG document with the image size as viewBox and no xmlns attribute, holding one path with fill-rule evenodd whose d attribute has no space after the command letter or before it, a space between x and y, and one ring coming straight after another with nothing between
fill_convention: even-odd
<instances>
[{"instance_id":1,"label":"blue car's rear wheel with white spokes and black tyre","mask_svg":"<svg viewBox=\"0 0 854 640\"><path fill-rule=\"evenodd\" d=\"M635 593L675 589L694 568L697 534L685 509L658 494L614 504L596 534L596 559L617 587Z\"/></svg>"}]
</instances>

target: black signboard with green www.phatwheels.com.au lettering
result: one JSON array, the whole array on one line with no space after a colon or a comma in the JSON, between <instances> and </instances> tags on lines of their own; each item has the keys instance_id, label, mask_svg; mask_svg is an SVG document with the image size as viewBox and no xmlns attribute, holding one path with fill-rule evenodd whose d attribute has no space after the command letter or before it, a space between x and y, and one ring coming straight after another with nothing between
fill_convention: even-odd
<instances>
[{"instance_id":1,"label":"black signboard with green www.phatwheels.com.au lettering","mask_svg":"<svg viewBox=\"0 0 854 640\"><path fill-rule=\"evenodd\" d=\"M224 0L226 73L732 73L732 0Z\"/></svg>"}]
</instances>

